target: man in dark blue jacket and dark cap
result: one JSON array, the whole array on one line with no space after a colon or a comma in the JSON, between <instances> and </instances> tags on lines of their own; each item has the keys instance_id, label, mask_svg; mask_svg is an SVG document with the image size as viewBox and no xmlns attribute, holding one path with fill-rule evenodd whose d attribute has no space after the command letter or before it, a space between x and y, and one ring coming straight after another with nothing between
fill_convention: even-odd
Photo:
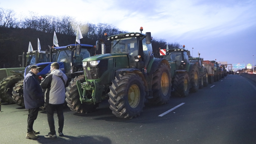
<instances>
[{"instance_id":1,"label":"man in dark blue jacket and dark cap","mask_svg":"<svg viewBox=\"0 0 256 144\"><path fill-rule=\"evenodd\" d=\"M24 78L23 91L24 91L24 104L25 108L28 109L28 126L27 126L27 139L38 138L39 131L33 130L34 121L37 118L39 107L44 106L44 98L41 86L36 78L39 73L37 65L30 66L30 71Z\"/></svg>"}]
</instances>

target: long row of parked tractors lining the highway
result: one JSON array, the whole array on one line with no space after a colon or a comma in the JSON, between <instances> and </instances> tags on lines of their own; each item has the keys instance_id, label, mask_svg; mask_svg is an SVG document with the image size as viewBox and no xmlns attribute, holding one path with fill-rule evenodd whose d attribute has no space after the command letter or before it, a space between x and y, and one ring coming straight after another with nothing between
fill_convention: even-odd
<instances>
[{"instance_id":1,"label":"long row of parked tractors lining the highway","mask_svg":"<svg viewBox=\"0 0 256 144\"><path fill-rule=\"evenodd\" d=\"M96 46L72 44L50 48L51 61L36 62L41 67L37 75L45 78L50 64L58 62L60 70L68 76L66 103L72 111L93 112L100 102L108 100L112 113L121 118L137 117L146 103L166 104L171 95L186 97L189 92L207 86L208 81L221 78L218 63L189 58L190 51L185 46L166 49L164 56L155 57L151 33L142 34L142 30L141 27L140 33L106 37L111 42L108 54L104 53L102 40ZM103 53L95 55L99 47ZM22 78L30 66L25 68ZM1 81L0 90L5 92L1 98L8 97L24 106L23 79L7 88L7 78ZM8 102L7 98L4 100Z\"/></svg>"}]
</instances>

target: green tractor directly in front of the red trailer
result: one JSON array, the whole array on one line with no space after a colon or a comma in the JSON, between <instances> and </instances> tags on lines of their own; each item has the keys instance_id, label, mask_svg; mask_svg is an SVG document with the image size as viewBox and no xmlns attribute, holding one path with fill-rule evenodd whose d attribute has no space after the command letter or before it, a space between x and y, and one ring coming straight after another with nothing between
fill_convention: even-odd
<instances>
[{"instance_id":1,"label":"green tractor directly in front of the red trailer","mask_svg":"<svg viewBox=\"0 0 256 144\"><path fill-rule=\"evenodd\" d=\"M208 71L206 67L202 65L204 59L200 57L190 57L188 59L190 63L196 64L199 68L199 88L208 86Z\"/></svg>"}]
</instances>

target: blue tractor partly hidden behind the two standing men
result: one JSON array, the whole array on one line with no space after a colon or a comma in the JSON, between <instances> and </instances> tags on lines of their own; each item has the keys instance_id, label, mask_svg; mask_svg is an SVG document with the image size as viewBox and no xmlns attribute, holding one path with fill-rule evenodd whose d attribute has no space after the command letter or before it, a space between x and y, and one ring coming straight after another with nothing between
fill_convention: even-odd
<instances>
[{"instance_id":1,"label":"blue tractor partly hidden behind the two standing men","mask_svg":"<svg viewBox=\"0 0 256 144\"><path fill-rule=\"evenodd\" d=\"M82 60L95 54L97 49L95 49L94 46L87 44L71 44L68 46L54 47L51 50L54 61L59 63L60 70L67 75L69 82L72 78L84 73ZM47 74L50 73L51 64L52 62L36 64L37 66L41 67L37 76L42 76L45 78ZM28 74L30 66L32 65L28 65L26 67L24 77L26 74ZM15 103L21 107L24 107L23 81L24 79L18 81L12 91ZM39 78L38 81L41 82Z\"/></svg>"}]
</instances>

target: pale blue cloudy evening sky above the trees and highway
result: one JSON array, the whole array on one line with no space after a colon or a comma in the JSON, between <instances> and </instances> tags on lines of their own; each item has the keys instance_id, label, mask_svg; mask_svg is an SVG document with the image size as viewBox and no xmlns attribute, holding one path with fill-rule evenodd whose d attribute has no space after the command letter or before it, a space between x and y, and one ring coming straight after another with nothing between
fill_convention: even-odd
<instances>
[{"instance_id":1,"label":"pale blue cloudy evening sky above the trees and highway","mask_svg":"<svg viewBox=\"0 0 256 144\"><path fill-rule=\"evenodd\" d=\"M204 60L256 65L256 0L0 0L0 8L128 32L142 26L153 38L185 45L193 57L199 52Z\"/></svg>"}]
</instances>

